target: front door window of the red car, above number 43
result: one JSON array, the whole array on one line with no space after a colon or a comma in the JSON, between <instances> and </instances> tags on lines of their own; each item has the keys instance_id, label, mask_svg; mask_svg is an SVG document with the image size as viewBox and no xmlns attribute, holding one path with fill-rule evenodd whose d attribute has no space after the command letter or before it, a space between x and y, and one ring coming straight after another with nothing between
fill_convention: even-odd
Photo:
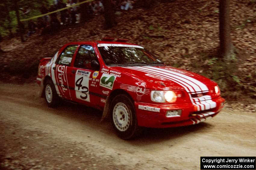
<instances>
[{"instance_id":1,"label":"front door window of the red car, above number 43","mask_svg":"<svg viewBox=\"0 0 256 170\"><path fill-rule=\"evenodd\" d=\"M92 46L82 45L77 52L74 67L92 69L92 60L98 61Z\"/></svg>"}]
</instances>

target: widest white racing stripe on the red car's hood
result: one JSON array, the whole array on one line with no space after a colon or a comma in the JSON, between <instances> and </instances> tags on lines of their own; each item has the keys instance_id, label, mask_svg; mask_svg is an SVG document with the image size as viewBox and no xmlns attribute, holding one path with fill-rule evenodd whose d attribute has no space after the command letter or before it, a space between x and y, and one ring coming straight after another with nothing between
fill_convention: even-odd
<instances>
[{"instance_id":1,"label":"widest white racing stripe on the red car's hood","mask_svg":"<svg viewBox=\"0 0 256 170\"><path fill-rule=\"evenodd\" d=\"M198 86L198 88L200 90L196 90L196 91L207 91L207 90L209 90L204 83L202 83L202 82L198 81L197 79L194 79L190 76L187 76L187 75L175 72L175 71L171 71L171 70L168 70L168 69L158 68L158 67L147 66L147 68L153 68L155 70L164 71L164 72L170 73L172 75L180 76L181 78L187 79L188 81L190 81L193 84L195 84L196 86ZM193 86L193 87L195 87L195 89L198 89L198 88L196 88L196 86Z\"/></svg>"}]
</instances>

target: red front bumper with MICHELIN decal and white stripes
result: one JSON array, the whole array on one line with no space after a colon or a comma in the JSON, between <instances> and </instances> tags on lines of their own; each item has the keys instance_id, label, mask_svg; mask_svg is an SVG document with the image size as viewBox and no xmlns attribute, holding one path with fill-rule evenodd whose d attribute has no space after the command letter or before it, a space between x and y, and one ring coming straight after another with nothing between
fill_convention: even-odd
<instances>
[{"instance_id":1,"label":"red front bumper with MICHELIN decal and white stripes","mask_svg":"<svg viewBox=\"0 0 256 170\"><path fill-rule=\"evenodd\" d=\"M197 124L208 118L216 116L224 107L224 99L221 97L212 99L216 107L208 110L197 111L192 103L180 104L150 104L135 102L138 125L152 128L168 128ZM166 117L169 110L182 110L179 117Z\"/></svg>"}]
</instances>

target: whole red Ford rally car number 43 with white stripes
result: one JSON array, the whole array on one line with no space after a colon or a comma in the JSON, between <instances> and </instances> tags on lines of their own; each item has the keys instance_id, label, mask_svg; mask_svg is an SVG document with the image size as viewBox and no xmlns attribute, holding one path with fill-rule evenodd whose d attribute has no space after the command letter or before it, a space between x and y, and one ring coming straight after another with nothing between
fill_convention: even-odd
<instances>
[{"instance_id":1,"label":"whole red Ford rally car number 43 with white stripes","mask_svg":"<svg viewBox=\"0 0 256 170\"><path fill-rule=\"evenodd\" d=\"M124 39L67 43L40 60L36 80L48 106L62 98L100 109L122 139L143 127L198 124L224 106L216 82L166 66Z\"/></svg>"}]
</instances>

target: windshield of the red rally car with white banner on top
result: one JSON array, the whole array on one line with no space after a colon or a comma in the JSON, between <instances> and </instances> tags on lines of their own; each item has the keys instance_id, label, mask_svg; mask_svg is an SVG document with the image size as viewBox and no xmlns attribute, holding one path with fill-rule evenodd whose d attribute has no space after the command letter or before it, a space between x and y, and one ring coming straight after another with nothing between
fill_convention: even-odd
<instances>
[{"instance_id":1,"label":"windshield of the red rally car with white banner on top","mask_svg":"<svg viewBox=\"0 0 256 170\"><path fill-rule=\"evenodd\" d=\"M119 45L119 44L118 44ZM150 52L140 46L129 45L103 45L99 44L98 49L101 57L107 65L138 65L138 64L161 64Z\"/></svg>"}]
</instances>

